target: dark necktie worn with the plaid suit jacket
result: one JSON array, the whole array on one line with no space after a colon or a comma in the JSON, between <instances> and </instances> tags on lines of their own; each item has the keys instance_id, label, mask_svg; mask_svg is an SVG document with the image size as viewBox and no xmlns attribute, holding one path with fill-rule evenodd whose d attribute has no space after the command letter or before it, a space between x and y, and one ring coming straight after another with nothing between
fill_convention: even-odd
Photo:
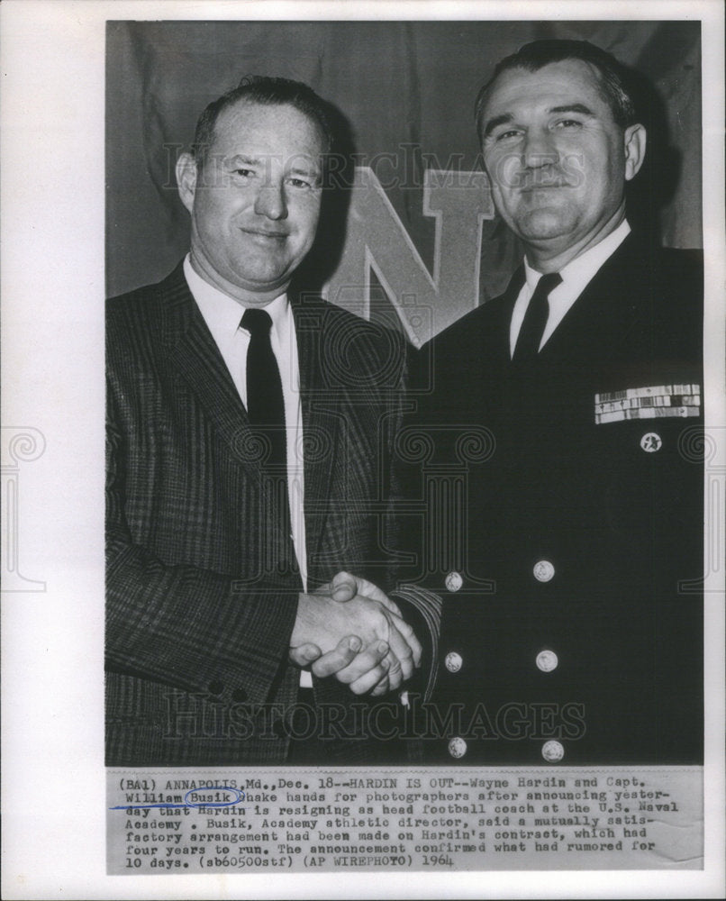
<instances>
[{"instance_id":1,"label":"dark necktie worn with the plaid suit jacket","mask_svg":"<svg viewBox=\"0 0 726 901\"><path fill-rule=\"evenodd\" d=\"M262 458L262 465L265 473L272 479L280 522L286 532L289 532L285 400L280 370L269 341L272 320L265 310L253 308L245 311L240 325L250 332L250 347L247 350L247 414L254 432L268 448L268 453Z\"/></svg>"}]
</instances>

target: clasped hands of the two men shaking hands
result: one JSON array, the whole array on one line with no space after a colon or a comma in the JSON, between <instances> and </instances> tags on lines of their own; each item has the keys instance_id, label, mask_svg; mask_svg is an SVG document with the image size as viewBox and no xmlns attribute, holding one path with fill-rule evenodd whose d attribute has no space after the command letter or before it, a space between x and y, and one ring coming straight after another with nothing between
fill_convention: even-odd
<instances>
[{"instance_id":1,"label":"clasped hands of the two men shaking hands","mask_svg":"<svg viewBox=\"0 0 726 901\"><path fill-rule=\"evenodd\" d=\"M300 595L289 657L318 678L334 676L356 695L384 695L411 678L421 655L399 608L365 578L339 572Z\"/></svg>"}]
</instances>

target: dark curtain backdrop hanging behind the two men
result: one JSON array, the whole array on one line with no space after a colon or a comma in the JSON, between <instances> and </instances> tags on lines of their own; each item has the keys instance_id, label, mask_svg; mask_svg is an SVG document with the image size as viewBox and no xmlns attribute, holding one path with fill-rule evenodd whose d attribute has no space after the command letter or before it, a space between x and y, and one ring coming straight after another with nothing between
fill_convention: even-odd
<instances>
[{"instance_id":1,"label":"dark curtain backdrop hanging behind the two men","mask_svg":"<svg viewBox=\"0 0 726 901\"><path fill-rule=\"evenodd\" d=\"M401 260L401 271L411 267L413 252L424 268L431 274L438 268L442 277L445 267L439 266L437 253L449 251L446 246L437 249L435 220L423 213L424 170L477 168L472 111L478 87L498 59L544 37L593 41L641 73L639 103L649 127L649 160L629 215L658 229L669 246L701 247L700 23L111 22L106 120L109 294L162 278L186 252L188 216L177 198L177 153L188 148L204 106L248 74L304 81L340 110L349 150L357 154L359 164L374 169L413 244ZM377 214L369 214L377 218L366 223L368 235L379 221L384 227L383 207L378 207ZM343 220L329 226L331 249L323 247L318 257L333 271L322 271L321 280L334 280L334 270L342 271L340 254L352 252L355 242L350 235L348 243L344 240L345 220L347 216L350 223L357 209L355 203L347 213L339 208ZM364 204L359 209L374 207ZM449 266L447 271L454 273L449 285L441 290L430 286L434 303L449 309L440 310L436 321L418 334L409 328L413 340L439 331L468 306L504 287L519 250L496 219L484 215L478 223L476 271L471 260L461 264L476 276L477 296L456 301L457 294L471 292L466 286L474 277L467 275L466 286L462 281L459 289L456 268ZM401 232L396 223L387 227ZM447 246L455 247L450 229ZM345 268L345 259L342 264ZM366 290L387 294L389 302L400 307L402 288L391 287L394 275L386 274L395 269L390 259L386 267L369 267ZM344 292L331 299L346 305ZM360 298L350 305L370 313Z\"/></svg>"}]
</instances>

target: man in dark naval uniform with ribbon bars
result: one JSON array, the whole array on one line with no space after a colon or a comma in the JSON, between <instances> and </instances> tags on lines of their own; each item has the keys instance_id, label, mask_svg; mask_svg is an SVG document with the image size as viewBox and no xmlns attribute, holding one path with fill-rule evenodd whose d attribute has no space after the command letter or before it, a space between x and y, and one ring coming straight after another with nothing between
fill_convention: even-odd
<instances>
[{"instance_id":1,"label":"man in dark naval uniform with ribbon bars","mask_svg":"<svg viewBox=\"0 0 726 901\"><path fill-rule=\"evenodd\" d=\"M444 549L427 760L698 763L700 260L631 231L646 132L603 50L526 45L476 124L524 259L422 353L418 490Z\"/></svg>"}]
</instances>

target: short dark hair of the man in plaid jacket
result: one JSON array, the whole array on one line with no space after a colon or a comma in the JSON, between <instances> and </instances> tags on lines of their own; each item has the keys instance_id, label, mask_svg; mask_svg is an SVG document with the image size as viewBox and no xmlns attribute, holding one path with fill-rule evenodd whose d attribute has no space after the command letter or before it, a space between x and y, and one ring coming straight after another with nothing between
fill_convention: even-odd
<instances>
[{"instance_id":1,"label":"short dark hair of the man in plaid jacket","mask_svg":"<svg viewBox=\"0 0 726 901\"><path fill-rule=\"evenodd\" d=\"M213 100L199 116L192 144L192 156L198 168L204 167L207 152L214 142L214 127L220 114L238 103L294 106L318 126L326 152L331 150L333 134L328 104L315 94L312 87L289 78L249 75L242 78L237 87Z\"/></svg>"}]
</instances>

